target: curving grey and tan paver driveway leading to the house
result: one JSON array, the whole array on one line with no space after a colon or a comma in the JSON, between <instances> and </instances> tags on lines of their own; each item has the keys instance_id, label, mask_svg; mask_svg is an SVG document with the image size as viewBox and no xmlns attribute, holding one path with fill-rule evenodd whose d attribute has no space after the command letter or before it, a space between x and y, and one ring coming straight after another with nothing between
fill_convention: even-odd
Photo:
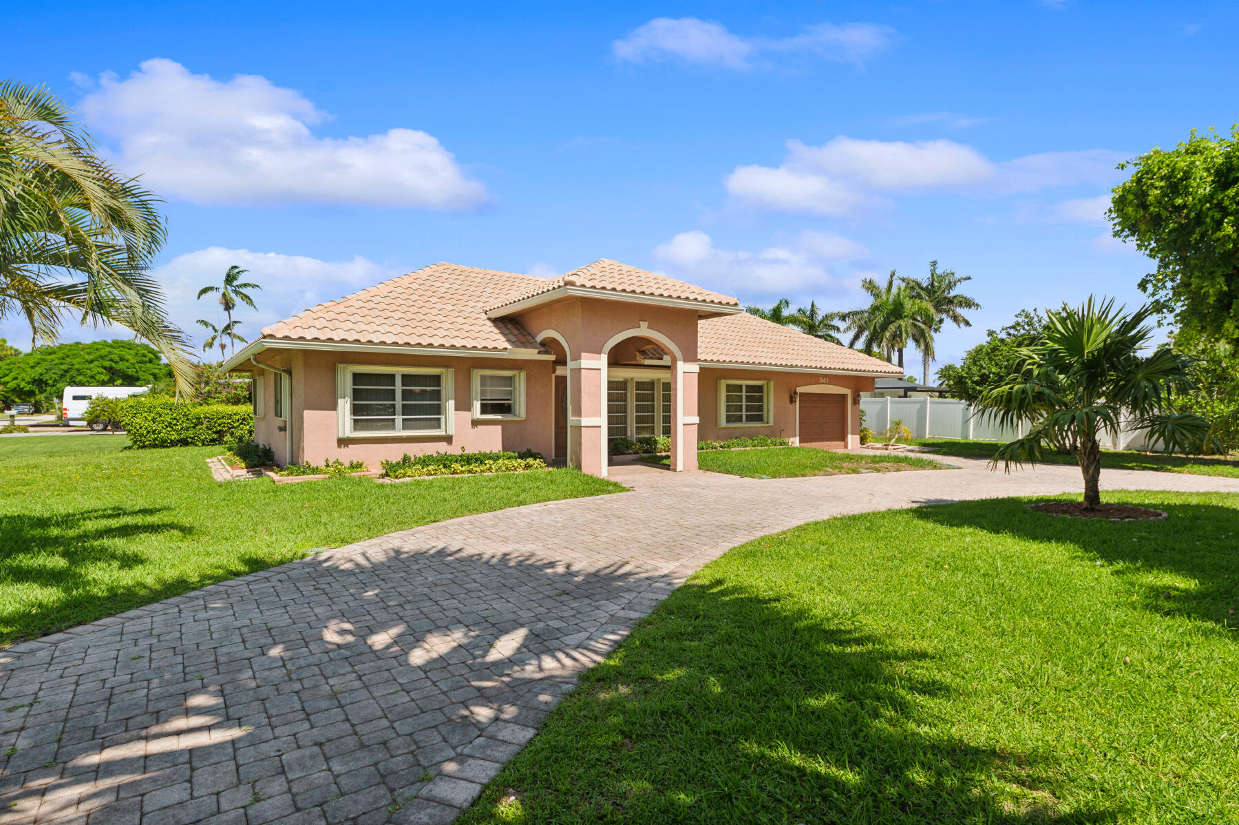
<instances>
[{"instance_id":1,"label":"curving grey and tan paver driveway leading to the house","mask_svg":"<svg viewBox=\"0 0 1239 825\"><path fill-rule=\"evenodd\" d=\"M624 468L633 492L394 533L15 645L0 652L0 824L451 821L581 670L729 548L1080 486L1073 467L952 461L964 468L769 481Z\"/></svg>"}]
</instances>

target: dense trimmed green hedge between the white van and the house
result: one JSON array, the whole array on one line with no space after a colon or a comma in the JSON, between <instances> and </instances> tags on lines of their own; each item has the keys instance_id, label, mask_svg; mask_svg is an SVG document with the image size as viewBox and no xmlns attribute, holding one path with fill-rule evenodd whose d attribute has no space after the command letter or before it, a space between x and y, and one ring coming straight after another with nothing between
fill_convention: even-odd
<instances>
[{"instance_id":1,"label":"dense trimmed green hedge between the white van and the house","mask_svg":"<svg viewBox=\"0 0 1239 825\"><path fill-rule=\"evenodd\" d=\"M129 398L119 405L129 442L150 447L202 447L254 439L254 414L234 404L178 404L165 398Z\"/></svg>"}]
</instances>

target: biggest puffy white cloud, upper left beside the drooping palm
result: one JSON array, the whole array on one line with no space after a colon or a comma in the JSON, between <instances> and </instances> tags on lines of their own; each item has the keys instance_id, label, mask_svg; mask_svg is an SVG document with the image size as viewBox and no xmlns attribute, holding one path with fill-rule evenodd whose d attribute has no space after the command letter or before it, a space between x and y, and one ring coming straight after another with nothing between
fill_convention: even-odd
<instances>
[{"instance_id":1,"label":"biggest puffy white cloud, upper left beside the drooping palm","mask_svg":"<svg viewBox=\"0 0 1239 825\"><path fill-rule=\"evenodd\" d=\"M81 83L82 79L78 78ZM487 199L434 136L320 138L327 115L264 77L221 82L175 61L99 76L81 109L152 191L196 203L351 203L470 209Z\"/></svg>"}]
</instances>

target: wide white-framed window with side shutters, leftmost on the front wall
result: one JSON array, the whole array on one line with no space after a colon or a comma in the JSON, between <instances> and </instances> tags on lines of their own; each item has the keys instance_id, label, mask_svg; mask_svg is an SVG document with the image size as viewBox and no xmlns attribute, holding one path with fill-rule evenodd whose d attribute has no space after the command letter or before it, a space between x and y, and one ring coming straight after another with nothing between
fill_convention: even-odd
<instances>
[{"instance_id":1,"label":"wide white-framed window with side shutters, leftmost on the front wall","mask_svg":"<svg viewBox=\"0 0 1239 825\"><path fill-rule=\"evenodd\" d=\"M341 436L447 435L451 370L342 367Z\"/></svg>"}]
</instances>

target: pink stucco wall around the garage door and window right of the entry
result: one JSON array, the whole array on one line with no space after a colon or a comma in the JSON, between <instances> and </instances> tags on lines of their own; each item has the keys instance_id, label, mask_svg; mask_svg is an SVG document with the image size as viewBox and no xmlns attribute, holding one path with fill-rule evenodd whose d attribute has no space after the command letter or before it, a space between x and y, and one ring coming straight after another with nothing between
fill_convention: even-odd
<instances>
[{"instance_id":1,"label":"pink stucco wall around the garage door and window right of the entry","mask_svg":"<svg viewBox=\"0 0 1239 825\"><path fill-rule=\"evenodd\" d=\"M719 380L772 382L771 422L758 426L719 426ZM701 425L698 427L703 441L722 441L740 436L767 435L776 439L797 437L797 411L792 394L800 388L812 390L833 386L849 393L847 432L849 446L860 445L859 406L851 404L851 395L865 393L873 388L872 378L854 375L823 375L819 373L782 373L764 369L717 369L701 368L700 395L698 409Z\"/></svg>"}]
</instances>

